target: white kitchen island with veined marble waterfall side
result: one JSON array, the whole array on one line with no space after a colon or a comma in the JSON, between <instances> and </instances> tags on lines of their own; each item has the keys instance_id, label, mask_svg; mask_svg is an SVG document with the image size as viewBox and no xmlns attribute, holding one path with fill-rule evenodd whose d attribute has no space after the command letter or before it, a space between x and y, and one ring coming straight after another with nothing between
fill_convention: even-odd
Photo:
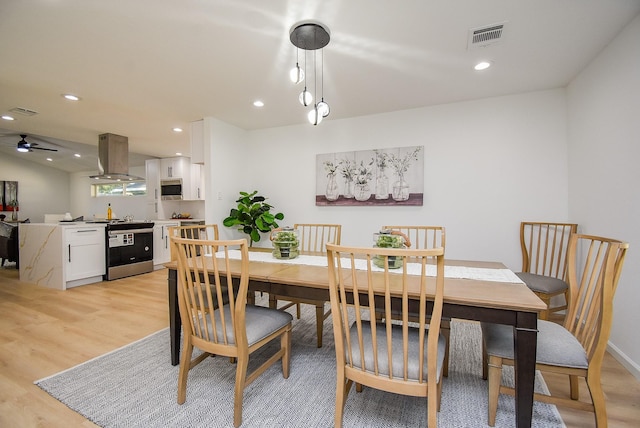
<instances>
[{"instance_id":1,"label":"white kitchen island with veined marble waterfall side","mask_svg":"<svg viewBox=\"0 0 640 428\"><path fill-rule=\"evenodd\" d=\"M20 281L58 290L102 281L105 227L85 222L20 224Z\"/></svg>"}]
</instances>

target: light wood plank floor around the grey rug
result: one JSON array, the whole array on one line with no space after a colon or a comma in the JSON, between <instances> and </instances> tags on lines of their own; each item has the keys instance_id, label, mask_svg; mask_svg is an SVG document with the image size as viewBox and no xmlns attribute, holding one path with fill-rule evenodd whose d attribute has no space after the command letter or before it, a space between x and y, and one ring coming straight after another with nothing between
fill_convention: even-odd
<instances>
[{"instance_id":1,"label":"light wood plank floor around the grey rug","mask_svg":"<svg viewBox=\"0 0 640 428\"><path fill-rule=\"evenodd\" d=\"M0 268L0 427L95 427L33 382L167 327L166 277L159 270L58 291ZM545 380L566 390L562 378ZM609 426L637 427L640 381L607 355L602 383ZM591 413L559 410L568 427L595 426Z\"/></svg>"}]
</instances>

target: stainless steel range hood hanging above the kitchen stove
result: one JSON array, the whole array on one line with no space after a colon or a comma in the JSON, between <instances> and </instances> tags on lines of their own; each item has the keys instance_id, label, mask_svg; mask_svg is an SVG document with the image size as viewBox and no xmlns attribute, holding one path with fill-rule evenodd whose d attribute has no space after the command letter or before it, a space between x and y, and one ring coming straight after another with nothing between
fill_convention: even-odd
<instances>
[{"instance_id":1,"label":"stainless steel range hood hanging above the kitchen stove","mask_svg":"<svg viewBox=\"0 0 640 428\"><path fill-rule=\"evenodd\" d=\"M96 180L143 180L129 174L129 138L116 134L101 134L98 137L98 175Z\"/></svg>"}]
</instances>

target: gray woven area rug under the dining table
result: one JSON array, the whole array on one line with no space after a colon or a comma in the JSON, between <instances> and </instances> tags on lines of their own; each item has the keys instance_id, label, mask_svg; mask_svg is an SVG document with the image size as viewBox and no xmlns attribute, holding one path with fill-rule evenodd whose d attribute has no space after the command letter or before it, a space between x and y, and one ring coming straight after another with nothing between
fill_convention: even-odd
<instances>
[{"instance_id":1,"label":"gray woven area rug under the dining table","mask_svg":"<svg viewBox=\"0 0 640 428\"><path fill-rule=\"evenodd\" d=\"M289 379L283 379L277 363L249 385L243 427L333 426L336 367L331 318L325 321L324 346L318 349L314 307L302 309L301 319L294 320ZM264 352L254 354L250 365L255 367L264 356ZM481 361L479 324L452 322L451 365L449 377L444 378L439 426L487 426L487 383L482 380ZM35 383L102 427L232 427L234 377L235 366L228 358L209 358L191 370L187 401L178 405L178 367L170 364L165 329ZM512 371L505 370L504 377L513 383ZM540 374L536 390L547 392ZM425 427L426 416L426 399L352 389L344 426ZM496 427L513 426L514 400L501 395ZM565 425L555 406L536 402L532 426Z\"/></svg>"}]
</instances>

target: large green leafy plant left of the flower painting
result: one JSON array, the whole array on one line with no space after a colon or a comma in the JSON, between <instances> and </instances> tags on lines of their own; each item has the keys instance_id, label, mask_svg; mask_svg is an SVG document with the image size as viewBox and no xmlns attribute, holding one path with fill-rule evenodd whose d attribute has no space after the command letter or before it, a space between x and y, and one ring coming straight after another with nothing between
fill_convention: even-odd
<instances>
[{"instance_id":1,"label":"large green leafy plant left of the flower painting","mask_svg":"<svg viewBox=\"0 0 640 428\"><path fill-rule=\"evenodd\" d=\"M229 217L222 222L226 227L236 226L238 230L249 235L249 246L260 241L260 233L271 232L278 227L276 220L284 219L284 214L271 213L273 206L265 202L267 198L258 195L255 190L251 193L240 192L240 198L236 200L236 208L232 208Z\"/></svg>"}]
</instances>

